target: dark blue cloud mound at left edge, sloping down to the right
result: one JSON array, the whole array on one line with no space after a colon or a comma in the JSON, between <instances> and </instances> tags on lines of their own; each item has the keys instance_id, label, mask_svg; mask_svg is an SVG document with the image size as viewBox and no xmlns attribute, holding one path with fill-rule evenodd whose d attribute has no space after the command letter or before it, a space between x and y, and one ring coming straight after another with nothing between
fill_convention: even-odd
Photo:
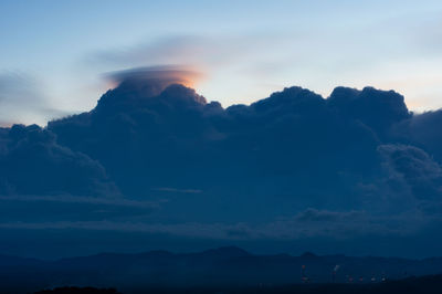
<instances>
[{"instance_id":1,"label":"dark blue cloud mound at left edge, sloping down to the right","mask_svg":"<svg viewBox=\"0 0 442 294\"><path fill-rule=\"evenodd\" d=\"M103 166L55 141L36 125L13 125L0 134L0 193L118 196Z\"/></svg>"}]
</instances>

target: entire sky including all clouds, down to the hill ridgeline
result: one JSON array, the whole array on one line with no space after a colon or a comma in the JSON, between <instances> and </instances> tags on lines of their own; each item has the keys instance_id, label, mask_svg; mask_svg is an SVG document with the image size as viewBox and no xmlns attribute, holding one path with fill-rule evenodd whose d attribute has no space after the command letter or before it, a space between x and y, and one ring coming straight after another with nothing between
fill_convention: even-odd
<instances>
[{"instance_id":1,"label":"entire sky including all clouds, down to the hill ridgeline","mask_svg":"<svg viewBox=\"0 0 442 294\"><path fill-rule=\"evenodd\" d=\"M2 1L0 253L440 255L441 12Z\"/></svg>"}]
</instances>

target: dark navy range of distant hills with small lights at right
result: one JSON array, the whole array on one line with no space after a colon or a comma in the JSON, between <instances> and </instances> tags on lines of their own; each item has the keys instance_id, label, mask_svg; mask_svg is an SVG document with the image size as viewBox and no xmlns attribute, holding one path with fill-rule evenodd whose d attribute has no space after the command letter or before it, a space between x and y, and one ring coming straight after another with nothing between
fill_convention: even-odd
<instances>
[{"instance_id":1,"label":"dark navy range of distant hills with small lights at right","mask_svg":"<svg viewBox=\"0 0 442 294\"><path fill-rule=\"evenodd\" d=\"M147 287L377 284L431 274L442 274L442 258L255 255L235 246L198 253L102 253L56 261L0 256L0 287L13 292L65 285L115 287L125 292Z\"/></svg>"}]
</instances>

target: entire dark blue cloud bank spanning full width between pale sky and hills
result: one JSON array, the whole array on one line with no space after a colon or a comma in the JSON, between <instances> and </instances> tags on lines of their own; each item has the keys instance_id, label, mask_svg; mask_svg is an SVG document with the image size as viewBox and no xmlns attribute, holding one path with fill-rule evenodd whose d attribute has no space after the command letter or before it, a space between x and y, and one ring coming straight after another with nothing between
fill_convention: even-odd
<instances>
[{"instance_id":1,"label":"entire dark blue cloud bank spanning full width between pale sky and hills","mask_svg":"<svg viewBox=\"0 0 442 294\"><path fill-rule=\"evenodd\" d=\"M412 114L400 94L371 87L328 98L290 87L223 108L138 77L119 75L88 113L0 129L3 230L130 231L270 251L324 239L324 253L352 254L380 238L381 255L435 241L440 112ZM415 235L403 252L392 248Z\"/></svg>"}]
</instances>

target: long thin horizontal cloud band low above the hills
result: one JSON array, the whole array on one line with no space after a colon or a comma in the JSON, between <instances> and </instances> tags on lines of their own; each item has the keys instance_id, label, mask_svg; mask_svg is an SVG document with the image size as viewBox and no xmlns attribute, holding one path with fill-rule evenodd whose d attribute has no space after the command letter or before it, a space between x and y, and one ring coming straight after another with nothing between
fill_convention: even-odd
<instances>
[{"instance_id":1,"label":"long thin horizontal cloud band low above the hills","mask_svg":"<svg viewBox=\"0 0 442 294\"><path fill-rule=\"evenodd\" d=\"M442 219L423 218L415 213L393 217L370 216L365 211L328 211L306 209L292 218L281 218L260 225L249 222L180 222L148 223L138 220L88 220L54 222L0 222L2 229L82 229L149 234L169 234L172 237L224 239L224 240L302 240L305 238L329 238L330 240L355 240L365 235L390 237L413 235L425 223Z\"/></svg>"}]
</instances>

